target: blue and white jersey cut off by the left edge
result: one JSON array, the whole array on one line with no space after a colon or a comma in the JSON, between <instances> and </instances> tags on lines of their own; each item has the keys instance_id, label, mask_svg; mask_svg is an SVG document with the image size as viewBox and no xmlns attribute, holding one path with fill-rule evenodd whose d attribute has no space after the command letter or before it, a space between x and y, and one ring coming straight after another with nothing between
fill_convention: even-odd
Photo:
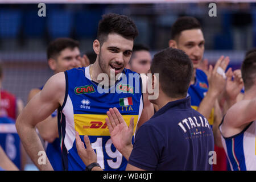
<instances>
[{"instance_id":1,"label":"blue and white jersey cut off by the left edge","mask_svg":"<svg viewBox=\"0 0 256 182\"><path fill-rule=\"evenodd\" d=\"M20 169L20 138L16 131L15 121L8 117L0 117L0 145L9 159Z\"/></svg>"}]
</instances>

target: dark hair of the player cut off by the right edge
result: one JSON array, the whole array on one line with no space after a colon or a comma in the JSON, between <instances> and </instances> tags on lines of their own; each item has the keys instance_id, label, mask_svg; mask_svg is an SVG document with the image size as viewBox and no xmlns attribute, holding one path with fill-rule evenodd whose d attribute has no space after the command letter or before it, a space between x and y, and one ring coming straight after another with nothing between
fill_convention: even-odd
<instances>
[{"instance_id":1,"label":"dark hair of the player cut off by the right edge","mask_svg":"<svg viewBox=\"0 0 256 182\"><path fill-rule=\"evenodd\" d=\"M253 86L256 78L256 50L251 49L246 53L245 60L242 63L242 78L245 90L249 90Z\"/></svg>"}]
</instances>

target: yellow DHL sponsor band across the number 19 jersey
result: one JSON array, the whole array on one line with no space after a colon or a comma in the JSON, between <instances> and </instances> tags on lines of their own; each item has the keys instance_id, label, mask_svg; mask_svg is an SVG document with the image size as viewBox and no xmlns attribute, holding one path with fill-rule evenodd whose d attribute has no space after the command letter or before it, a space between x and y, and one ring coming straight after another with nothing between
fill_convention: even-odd
<instances>
[{"instance_id":1,"label":"yellow DHL sponsor band across the number 19 jersey","mask_svg":"<svg viewBox=\"0 0 256 182\"><path fill-rule=\"evenodd\" d=\"M131 117L134 117L134 126L137 125L138 115L122 115L127 125L130 125ZM106 114L74 114L75 130L80 135L88 136L110 136L105 119ZM134 127L135 131L135 127Z\"/></svg>"}]
</instances>

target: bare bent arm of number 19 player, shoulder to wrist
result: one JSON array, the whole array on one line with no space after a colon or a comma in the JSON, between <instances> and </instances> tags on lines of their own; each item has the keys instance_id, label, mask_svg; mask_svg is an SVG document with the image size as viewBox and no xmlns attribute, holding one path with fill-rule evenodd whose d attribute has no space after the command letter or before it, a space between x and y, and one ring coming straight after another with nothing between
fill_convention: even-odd
<instances>
[{"instance_id":1,"label":"bare bent arm of number 19 player, shoulder to wrist","mask_svg":"<svg viewBox=\"0 0 256 182\"><path fill-rule=\"evenodd\" d=\"M65 97L64 72L49 78L43 90L36 94L24 107L16 121L16 129L23 146L34 164L40 170L53 170L48 158L46 164L39 164L38 152L44 151L42 143L36 134L35 126L46 119L62 104Z\"/></svg>"}]
</instances>

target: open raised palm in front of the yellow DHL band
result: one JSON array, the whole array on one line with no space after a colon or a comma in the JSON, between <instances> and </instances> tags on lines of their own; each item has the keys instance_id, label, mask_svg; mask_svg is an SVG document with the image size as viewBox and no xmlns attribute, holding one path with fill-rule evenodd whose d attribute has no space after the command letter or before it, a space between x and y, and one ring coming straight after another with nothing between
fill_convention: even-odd
<instances>
[{"instance_id":1,"label":"open raised palm in front of the yellow DHL band","mask_svg":"<svg viewBox=\"0 0 256 182\"><path fill-rule=\"evenodd\" d=\"M133 138L134 117L130 119L130 126L128 127L118 109L110 108L107 112L108 118L106 123L109 128L112 142L119 152L123 155L127 148L132 148L131 139ZM125 156L126 157L126 156Z\"/></svg>"}]
</instances>

